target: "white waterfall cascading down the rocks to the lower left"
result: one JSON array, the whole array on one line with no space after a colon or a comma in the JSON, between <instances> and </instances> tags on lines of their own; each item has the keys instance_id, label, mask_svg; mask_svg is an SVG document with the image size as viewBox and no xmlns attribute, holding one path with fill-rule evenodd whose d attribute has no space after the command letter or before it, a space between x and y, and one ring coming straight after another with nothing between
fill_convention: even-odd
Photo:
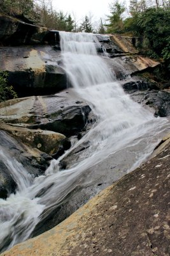
<instances>
[{"instance_id":1,"label":"white waterfall cascading down the rocks to the lower left","mask_svg":"<svg viewBox=\"0 0 170 256\"><path fill-rule=\"evenodd\" d=\"M166 129L165 118L154 118L124 93L115 74L104 62L106 57L97 55L96 45L99 45L96 35L60 32L63 64L69 83L74 92L89 102L97 122L64 156L52 161L44 176L33 180L19 173L17 193L7 200L0 200L1 251L27 239L37 223L61 205L80 184L88 168L110 155L114 157L120 150L126 152L128 148L140 145L139 150L133 152L130 170L149 156L160 132ZM89 141L89 147L83 150L78 162L69 170L60 172L59 161L86 141ZM4 164L9 165L3 150L0 153ZM22 166L17 164L15 161L11 166L20 170Z\"/></svg>"}]
</instances>

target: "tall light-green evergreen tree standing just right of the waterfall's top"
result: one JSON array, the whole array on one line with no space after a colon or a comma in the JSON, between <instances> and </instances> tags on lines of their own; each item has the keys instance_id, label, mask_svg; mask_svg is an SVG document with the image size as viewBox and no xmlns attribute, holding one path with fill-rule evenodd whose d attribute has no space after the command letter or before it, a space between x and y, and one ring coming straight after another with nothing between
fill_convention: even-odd
<instances>
[{"instance_id":1,"label":"tall light-green evergreen tree standing just right of the waterfall's top","mask_svg":"<svg viewBox=\"0 0 170 256\"><path fill-rule=\"evenodd\" d=\"M110 15L108 15L107 32L108 33L121 33L124 31L124 22L122 14L125 12L125 8L122 4L116 1L110 4Z\"/></svg>"}]
</instances>

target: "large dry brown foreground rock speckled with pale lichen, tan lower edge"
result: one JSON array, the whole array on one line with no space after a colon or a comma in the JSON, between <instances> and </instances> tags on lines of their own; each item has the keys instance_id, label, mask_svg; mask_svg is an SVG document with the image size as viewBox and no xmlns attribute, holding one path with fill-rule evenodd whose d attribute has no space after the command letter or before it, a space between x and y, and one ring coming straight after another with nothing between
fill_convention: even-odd
<instances>
[{"instance_id":1,"label":"large dry brown foreground rock speckled with pale lichen, tan lower edge","mask_svg":"<svg viewBox=\"0 0 170 256\"><path fill-rule=\"evenodd\" d=\"M1 255L168 256L170 141L164 144L60 225Z\"/></svg>"}]
</instances>

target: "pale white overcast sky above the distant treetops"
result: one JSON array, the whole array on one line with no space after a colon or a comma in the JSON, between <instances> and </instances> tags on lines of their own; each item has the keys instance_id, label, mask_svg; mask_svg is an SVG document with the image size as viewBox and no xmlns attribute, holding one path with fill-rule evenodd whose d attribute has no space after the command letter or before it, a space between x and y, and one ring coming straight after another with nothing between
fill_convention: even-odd
<instances>
[{"instance_id":1,"label":"pale white overcast sky above the distant treetops","mask_svg":"<svg viewBox=\"0 0 170 256\"><path fill-rule=\"evenodd\" d=\"M64 13L76 13L76 19L82 19L89 12L93 15L93 20L104 18L110 13L109 4L113 0L53 0L55 10L62 10Z\"/></svg>"}]
</instances>

